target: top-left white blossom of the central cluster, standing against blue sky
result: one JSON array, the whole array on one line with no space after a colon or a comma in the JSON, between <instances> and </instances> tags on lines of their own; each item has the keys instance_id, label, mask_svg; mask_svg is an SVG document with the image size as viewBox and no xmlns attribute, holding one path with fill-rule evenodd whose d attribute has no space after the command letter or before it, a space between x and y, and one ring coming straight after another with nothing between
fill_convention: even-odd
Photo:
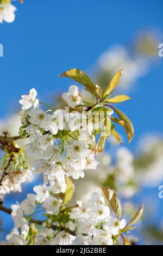
<instances>
[{"instance_id":1,"label":"top-left white blossom of the central cluster, standing against blue sky","mask_svg":"<svg viewBox=\"0 0 163 256\"><path fill-rule=\"evenodd\" d=\"M22 95L22 100L19 101L23 105L22 109L28 109L32 106L34 108L39 107L39 100L36 99L36 96L37 92L34 88L30 90L29 95Z\"/></svg>"}]
</instances>

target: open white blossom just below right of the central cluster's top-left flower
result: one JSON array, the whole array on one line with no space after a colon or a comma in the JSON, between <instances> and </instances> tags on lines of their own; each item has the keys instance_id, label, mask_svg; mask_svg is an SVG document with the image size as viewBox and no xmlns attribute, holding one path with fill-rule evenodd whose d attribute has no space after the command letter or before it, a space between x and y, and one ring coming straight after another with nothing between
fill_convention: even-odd
<instances>
[{"instance_id":1,"label":"open white blossom just below right of the central cluster's top-left flower","mask_svg":"<svg viewBox=\"0 0 163 256\"><path fill-rule=\"evenodd\" d=\"M43 128L47 125L48 116L46 112L41 108L31 109L28 114L30 116L29 121L31 124L39 125L40 128Z\"/></svg>"}]
</instances>

